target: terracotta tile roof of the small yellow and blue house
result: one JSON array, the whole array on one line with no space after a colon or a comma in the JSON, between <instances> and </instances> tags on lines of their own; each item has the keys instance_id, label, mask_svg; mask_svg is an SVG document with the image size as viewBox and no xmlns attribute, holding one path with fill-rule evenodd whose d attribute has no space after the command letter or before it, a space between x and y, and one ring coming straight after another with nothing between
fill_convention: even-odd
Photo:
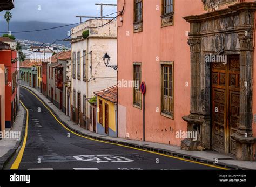
<instances>
[{"instance_id":1,"label":"terracotta tile roof of the small yellow and blue house","mask_svg":"<svg viewBox=\"0 0 256 187\"><path fill-rule=\"evenodd\" d=\"M117 103L117 85L110 88L104 89L103 91L95 92L95 95L110 101L112 103Z\"/></svg>"}]
</instances>

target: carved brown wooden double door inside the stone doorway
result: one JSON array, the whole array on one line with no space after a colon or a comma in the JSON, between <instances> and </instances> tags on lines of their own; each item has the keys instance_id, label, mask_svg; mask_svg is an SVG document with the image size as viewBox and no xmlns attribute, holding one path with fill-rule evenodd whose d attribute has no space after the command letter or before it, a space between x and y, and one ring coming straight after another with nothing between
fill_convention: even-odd
<instances>
[{"instance_id":1,"label":"carved brown wooden double door inside the stone doorway","mask_svg":"<svg viewBox=\"0 0 256 187\"><path fill-rule=\"evenodd\" d=\"M212 149L235 154L231 137L239 126L239 55L227 56L227 63L211 63Z\"/></svg>"}]
</instances>

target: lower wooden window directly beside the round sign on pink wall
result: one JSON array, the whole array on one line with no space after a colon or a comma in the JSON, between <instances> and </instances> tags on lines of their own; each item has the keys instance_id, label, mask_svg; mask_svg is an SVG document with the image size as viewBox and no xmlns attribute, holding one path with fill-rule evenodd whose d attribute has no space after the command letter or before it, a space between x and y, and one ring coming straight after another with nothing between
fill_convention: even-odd
<instances>
[{"instance_id":1,"label":"lower wooden window directly beside the round sign on pink wall","mask_svg":"<svg viewBox=\"0 0 256 187\"><path fill-rule=\"evenodd\" d=\"M142 92L140 91L140 84L142 83L142 71L140 63L133 65L133 106L142 109Z\"/></svg>"}]
</instances>

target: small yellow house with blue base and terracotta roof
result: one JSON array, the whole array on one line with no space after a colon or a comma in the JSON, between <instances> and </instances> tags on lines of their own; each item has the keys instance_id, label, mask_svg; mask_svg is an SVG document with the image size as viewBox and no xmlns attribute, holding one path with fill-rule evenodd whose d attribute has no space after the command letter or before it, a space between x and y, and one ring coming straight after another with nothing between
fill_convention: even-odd
<instances>
[{"instance_id":1,"label":"small yellow house with blue base and terracotta roof","mask_svg":"<svg viewBox=\"0 0 256 187\"><path fill-rule=\"evenodd\" d=\"M117 85L95 92L97 95L96 133L117 137Z\"/></svg>"}]
</instances>

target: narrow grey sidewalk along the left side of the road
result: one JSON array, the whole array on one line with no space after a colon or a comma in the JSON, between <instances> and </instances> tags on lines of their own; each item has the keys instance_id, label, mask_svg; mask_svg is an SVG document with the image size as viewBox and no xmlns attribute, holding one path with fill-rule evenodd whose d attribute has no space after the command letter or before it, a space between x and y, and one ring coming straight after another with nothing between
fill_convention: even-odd
<instances>
[{"instance_id":1,"label":"narrow grey sidewalk along the left side of the road","mask_svg":"<svg viewBox=\"0 0 256 187\"><path fill-rule=\"evenodd\" d=\"M19 132L21 137L19 140L14 138L2 138L0 140L0 169L4 169L5 165L9 162L11 157L15 154L15 151L18 149L19 144L22 142L24 135L24 125L25 125L25 110L22 106L19 107L20 110L16 116L14 126L12 129L5 129L5 132Z\"/></svg>"}]
</instances>

